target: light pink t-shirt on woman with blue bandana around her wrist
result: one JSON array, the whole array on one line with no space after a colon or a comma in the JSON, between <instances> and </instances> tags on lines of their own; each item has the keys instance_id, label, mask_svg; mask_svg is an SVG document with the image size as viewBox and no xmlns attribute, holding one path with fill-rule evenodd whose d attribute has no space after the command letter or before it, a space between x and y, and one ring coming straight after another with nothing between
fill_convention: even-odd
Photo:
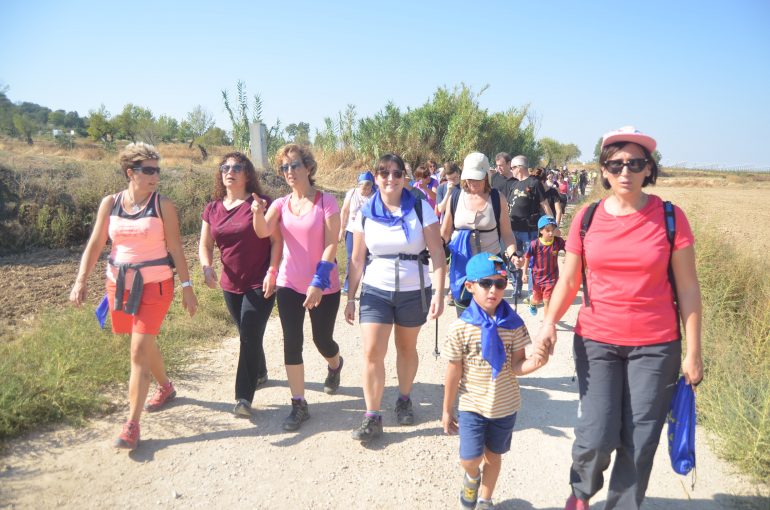
<instances>
[{"instance_id":1,"label":"light pink t-shirt on woman with blue bandana around her wrist","mask_svg":"<svg viewBox=\"0 0 770 510\"><path fill-rule=\"evenodd\" d=\"M321 261L325 247L324 222L333 214L339 214L337 199L329 193L318 192L313 208L302 216L291 212L291 195L277 198L270 204L270 210L277 209L281 234L283 235L283 260L275 280L279 287L305 294L313 280L316 265ZM324 294L340 290L340 274L335 264L329 274L331 287Z\"/></svg>"}]
</instances>

